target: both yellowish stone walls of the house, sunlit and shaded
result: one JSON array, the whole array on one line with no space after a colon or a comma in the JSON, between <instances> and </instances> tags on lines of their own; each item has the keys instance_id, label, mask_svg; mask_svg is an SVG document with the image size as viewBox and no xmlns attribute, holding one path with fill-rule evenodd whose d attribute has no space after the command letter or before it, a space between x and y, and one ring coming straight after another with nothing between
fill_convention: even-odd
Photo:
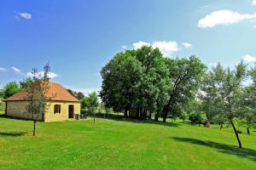
<instances>
[{"instance_id":1,"label":"both yellowish stone walls of the house, sunlit and shaded","mask_svg":"<svg viewBox=\"0 0 256 170\"><path fill-rule=\"evenodd\" d=\"M26 111L27 101L8 101L7 116L14 116L24 119L32 119L32 114ZM61 113L54 113L55 105L61 105ZM68 119L68 105L74 106L74 115L80 114L79 102L51 101L48 102L48 109L44 114L44 122L61 122ZM38 121L43 121L42 116L38 115Z\"/></svg>"}]
</instances>

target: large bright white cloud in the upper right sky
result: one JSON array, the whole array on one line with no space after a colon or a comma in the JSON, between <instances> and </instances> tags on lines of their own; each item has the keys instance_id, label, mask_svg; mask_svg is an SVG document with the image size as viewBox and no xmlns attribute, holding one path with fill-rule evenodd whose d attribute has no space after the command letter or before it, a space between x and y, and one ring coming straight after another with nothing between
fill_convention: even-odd
<instances>
[{"instance_id":1,"label":"large bright white cloud in the upper right sky","mask_svg":"<svg viewBox=\"0 0 256 170\"><path fill-rule=\"evenodd\" d=\"M206 17L198 21L197 26L200 28L214 27L218 25L229 26L242 20L256 19L256 14L239 14L231 10L218 10L207 14Z\"/></svg>"}]
</instances>

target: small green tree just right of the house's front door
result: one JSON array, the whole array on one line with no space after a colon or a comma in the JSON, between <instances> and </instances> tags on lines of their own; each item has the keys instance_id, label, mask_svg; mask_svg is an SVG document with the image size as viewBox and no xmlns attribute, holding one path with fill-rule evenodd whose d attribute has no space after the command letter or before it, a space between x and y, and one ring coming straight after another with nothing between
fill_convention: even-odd
<instances>
[{"instance_id":1,"label":"small green tree just right of the house's front door","mask_svg":"<svg viewBox=\"0 0 256 170\"><path fill-rule=\"evenodd\" d=\"M95 123L96 108L99 106L99 99L96 92L92 92L88 97L82 99L82 109L87 109L90 114L93 114L93 122Z\"/></svg>"}]
</instances>

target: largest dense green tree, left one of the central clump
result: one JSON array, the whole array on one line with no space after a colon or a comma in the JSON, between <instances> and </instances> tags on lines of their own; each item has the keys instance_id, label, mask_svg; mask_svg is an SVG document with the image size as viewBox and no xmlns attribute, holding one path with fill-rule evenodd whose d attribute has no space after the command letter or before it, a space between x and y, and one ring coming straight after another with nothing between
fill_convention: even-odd
<instances>
[{"instance_id":1,"label":"largest dense green tree, left one of the central clump","mask_svg":"<svg viewBox=\"0 0 256 170\"><path fill-rule=\"evenodd\" d=\"M158 48L144 46L119 53L102 68L102 101L115 111L137 108L137 116L156 111L166 103L169 88L166 59ZM157 119L157 118L156 118Z\"/></svg>"}]
</instances>

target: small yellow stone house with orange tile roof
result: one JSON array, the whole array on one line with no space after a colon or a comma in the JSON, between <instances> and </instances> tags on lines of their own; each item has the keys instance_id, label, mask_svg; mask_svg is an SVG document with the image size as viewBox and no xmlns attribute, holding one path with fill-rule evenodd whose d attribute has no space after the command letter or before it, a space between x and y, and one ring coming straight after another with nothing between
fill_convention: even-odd
<instances>
[{"instance_id":1,"label":"small yellow stone house with orange tile roof","mask_svg":"<svg viewBox=\"0 0 256 170\"><path fill-rule=\"evenodd\" d=\"M74 118L75 114L80 114L80 101L69 94L65 88L55 82L49 82L46 97L47 109L43 115L38 115L38 121L61 122ZM32 119L32 114L27 113L26 89L5 99L5 114L7 116Z\"/></svg>"}]
</instances>

